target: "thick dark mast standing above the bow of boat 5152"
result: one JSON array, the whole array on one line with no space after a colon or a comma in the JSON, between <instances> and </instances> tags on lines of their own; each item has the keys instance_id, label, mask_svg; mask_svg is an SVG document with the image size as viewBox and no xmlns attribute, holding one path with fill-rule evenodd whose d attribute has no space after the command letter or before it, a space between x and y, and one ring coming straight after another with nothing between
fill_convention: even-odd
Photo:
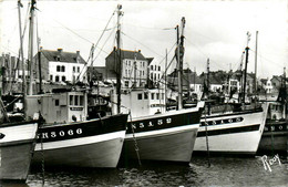
<instances>
[{"instance_id":1,"label":"thick dark mast standing above the bow of boat 5152","mask_svg":"<svg viewBox=\"0 0 288 187\"><path fill-rule=\"evenodd\" d=\"M182 18L182 33L179 38L179 27L176 27L177 30L177 67L178 67L178 110L183 108L183 56L184 56L184 28L185 28L185 18Z\"/></svg>"}]
</instances>

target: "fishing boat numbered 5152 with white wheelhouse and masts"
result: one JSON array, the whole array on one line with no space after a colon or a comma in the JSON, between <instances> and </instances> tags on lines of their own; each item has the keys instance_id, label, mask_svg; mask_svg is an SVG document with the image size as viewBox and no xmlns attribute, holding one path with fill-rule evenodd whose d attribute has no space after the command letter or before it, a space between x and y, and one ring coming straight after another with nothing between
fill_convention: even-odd
<instances>
[{"instance_id":1,"label":"fishing boat numbered 5152 with white wheelhouse and masts","mask_svg":"<svg viewBox=\"0 0 288 187\"><path fill-rule=\"evenodd\" d=\"M182 33L185 27L185 18L182 19ZM177 27L177 31L179 28ZM120 32L119 32L120 33ZM178 65L183 63L184 35L177 37L178 46L176 56ZM120 50L117 50L120 51ZM182 52L182 55L179 54ZM120 51L121 52L121 51ZM120 53L121 54L121 53ZM121 56L121 55L120 55ZM122 59L120 58L120 61ZM136 60L135 60L136 62ZM122 63L122 62L120 62ZM135 63L136 64L136 63ZM136 65L134 65L136 69ZM120 79L119 79L120 80ZM120 81L117 82L120 83ZM117 84L120 86L121 84ZM117 87L120 93L120 87ZM122 150L122 160L165 160L188 163L192 157L195 138L199 127L199 118L204 102L194 108L182 107L182 93L179 93L178 111L155 111L165 107L165 94L160 94L160 89L132 89L122 91L121 100L112 98L113 107L121 106L128 112L127 132ZM155 98L154 98L155 95Z\"/></svg>"}]
</instances>

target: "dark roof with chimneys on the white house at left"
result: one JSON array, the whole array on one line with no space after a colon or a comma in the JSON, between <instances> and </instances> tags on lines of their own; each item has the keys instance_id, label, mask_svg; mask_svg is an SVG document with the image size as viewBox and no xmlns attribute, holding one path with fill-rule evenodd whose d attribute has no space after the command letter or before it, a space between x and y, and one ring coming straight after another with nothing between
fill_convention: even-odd
<instances>
[{"instance_id":1,"label":"dark roof with chimneys on the white house at left","mask_svg":"<svg viewBox=\"0 0 288 187\"><path fill-rule=\"evenodd\" d=\"M81 63L85 64L86 62L80 55L80 52L64 52L62 49L58 51L42 50L42 54L47 58L48 61L59 61L59 62L69 62L69 63ZM58 60L58 58L60 58Z\"/></svg>"}]
</instances>

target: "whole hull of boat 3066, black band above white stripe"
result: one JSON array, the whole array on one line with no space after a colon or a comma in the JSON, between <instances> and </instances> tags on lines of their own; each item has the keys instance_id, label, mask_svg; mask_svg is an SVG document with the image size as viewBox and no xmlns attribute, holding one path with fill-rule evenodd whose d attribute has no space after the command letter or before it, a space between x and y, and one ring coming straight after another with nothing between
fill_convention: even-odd
<instances>
[{"instance_id":1,"label":"whole hull of boat 3066, black band above white stripe","mask_svg":"<svg viewBox=\"0 0 288 187\"><path fill-rule=\"evenodd\" d=\"M33 164L44 162L45 166L116 167L125 138L126 121L127 115L120 114L40 128Z\"/></svg>"}]
</instances>

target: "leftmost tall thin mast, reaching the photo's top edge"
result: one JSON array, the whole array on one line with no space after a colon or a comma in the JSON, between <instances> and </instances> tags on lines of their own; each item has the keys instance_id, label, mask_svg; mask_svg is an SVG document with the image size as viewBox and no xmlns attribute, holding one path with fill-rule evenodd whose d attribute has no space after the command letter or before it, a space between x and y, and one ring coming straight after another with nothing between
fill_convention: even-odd
<instances>
[{"instance_id":1,"label":"leftmost tall thin mast, reaching the photo's top edge","mask_svg":"<svg viewBox=\"0 0 288 187\"><path fill-rule=\"evenodd\" d=\"M20 58L21 58L21 64L22 64L22 93L23 93L23 108L24 108L24 118L27 114L27 90L25 90L25 65L24 65L24 56L23 56L23 38L22 38L22 27L21 27L21 11L20 8L23 7L21 1L18 0L18 15L19 15L19 35L20 35Z\"/></svg>"}]
</instances>

